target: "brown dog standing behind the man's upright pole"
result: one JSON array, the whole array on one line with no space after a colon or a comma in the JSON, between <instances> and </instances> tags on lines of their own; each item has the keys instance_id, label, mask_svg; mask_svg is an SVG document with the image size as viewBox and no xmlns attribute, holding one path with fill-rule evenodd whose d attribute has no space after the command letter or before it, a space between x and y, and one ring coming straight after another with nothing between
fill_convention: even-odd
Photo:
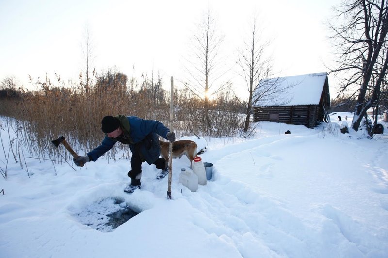
<instances>
[{"instance_id":1,"label":"brown dog standing behind the man's upright pole","mask_svg":"<svg viewBox=\"0 0 388 258\"><path fill-rule=\"evenodd\" d=\"M170 150L169 142L159 140L161 145L161 156L166 159L168 163L168 152ZM192 168L193 160L197 156L197 144L191 140L179 140L173 142L173 158L180 158L186 155L190 160L190 168Z\"/></svg>"}]
</instances>

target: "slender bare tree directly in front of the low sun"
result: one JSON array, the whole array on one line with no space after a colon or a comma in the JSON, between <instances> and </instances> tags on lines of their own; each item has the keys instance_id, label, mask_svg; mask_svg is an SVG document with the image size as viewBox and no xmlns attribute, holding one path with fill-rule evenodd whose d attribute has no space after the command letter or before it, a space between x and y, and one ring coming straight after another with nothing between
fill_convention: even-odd
<instances>
[{"instance_id":1,"label":"slender bare tree directly in front of the low sun","mask_svg":"<svg viewBox=\"0 0 388 258\"><path fill-rule=\"evenodd\" d=\"M223 80L226 69L225 61L219 55L223 36L218 33L216 23L210 10L198 24L194 35L191 57L186 59L186 72L189 74L184 86L195 96L204 101L205 122L210 126L209 97L229 86L229 80ZM224 61L224 62L223 62Z\"/></svg>"}]
</instances>

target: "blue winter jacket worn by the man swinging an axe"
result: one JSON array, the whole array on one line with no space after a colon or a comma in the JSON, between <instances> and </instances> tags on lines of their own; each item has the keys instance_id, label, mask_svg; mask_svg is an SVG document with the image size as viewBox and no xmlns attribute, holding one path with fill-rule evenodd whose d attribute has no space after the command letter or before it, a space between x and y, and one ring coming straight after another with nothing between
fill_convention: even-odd
<instances>
[{"instance_id":1,"label":"blue winter jacket worn by the man swinging an axe","mask_svg":"<svg viewBox=\"0 0 388 258\"><path fill-rule=\"evenodd\" d=\"M125 119L125 118L124 118ZM129 144L132 153L140 152L143 161L148 164L154 163L160 156L160 145L158 135L167 139L167 133L170 131L164 124L159 121L145 120L135 116L127 117L130 125L130 137L133 144ZM120 122L121 123L121 122ZM121 126L123 128L123 126ZM93 149L87 155L91 160L96 161L113 148L117 141L128 144L128 139L123 136L117 138L105 135L104 140L97 148Z\"/></svg>"}]
</instances>

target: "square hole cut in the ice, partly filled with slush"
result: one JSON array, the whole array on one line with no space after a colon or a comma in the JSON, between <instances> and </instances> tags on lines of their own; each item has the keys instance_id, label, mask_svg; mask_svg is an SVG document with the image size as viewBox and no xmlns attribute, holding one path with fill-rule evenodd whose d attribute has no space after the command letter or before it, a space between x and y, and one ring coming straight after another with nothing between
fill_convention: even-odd
<instances>
[{"instance_id":1,"label":"square hole cut in the ice, partly filled with slush","mask_svg":"<svg viewBox=\"0 0 388 258\"><path fill-rule=\"evenodd\" d=\"M120 197L101 198L74 211L74 216L87 226L102 232L111 232L118 226L139 214Z\"/></svg>"}]
</instances>

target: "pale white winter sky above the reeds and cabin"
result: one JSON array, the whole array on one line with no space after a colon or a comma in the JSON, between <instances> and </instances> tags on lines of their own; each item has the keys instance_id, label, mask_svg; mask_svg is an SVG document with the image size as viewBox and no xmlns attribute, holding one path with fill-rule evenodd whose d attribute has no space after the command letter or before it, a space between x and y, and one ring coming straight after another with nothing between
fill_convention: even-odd
<instances>
[{"instance_id":1,"label":"pale white winter sky above the reeds and cabin","mask_svg":"<svg viewBox=\"0 0 388 258\"><path fill-rule=\"evenodd\" d=\"M28 75L75 79L85 67L81 44L88 27L97 72L117 68L128 76L158 71L169 89L182 77L182 56L201 15L210 7L225 35L230 62L254 11L272 40L279 76L328 72L333 59L324 22L340 0L0 0L0 80L29 88ZM133 70L135 66L135 70ZM231 75L231 77L238 77ZM329 76L329 84L332 87ZM334 80L333 80L334 81ZM237 78L234 86L240 84ZM245 89L245 87L244 87Z\"/></svg>"}]
</instances>

